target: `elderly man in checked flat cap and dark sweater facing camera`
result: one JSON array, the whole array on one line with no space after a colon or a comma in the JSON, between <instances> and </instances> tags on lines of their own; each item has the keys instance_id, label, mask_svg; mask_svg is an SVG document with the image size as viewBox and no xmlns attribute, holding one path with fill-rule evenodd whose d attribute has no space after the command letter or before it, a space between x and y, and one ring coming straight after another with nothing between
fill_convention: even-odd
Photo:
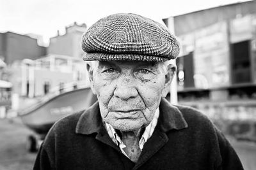
<instances>
[{"instance_id":1,"label":"elderly man in checked flat cap and dark sweater facing camera","mask_svg":"<svg viewBox=\"0 0 256 170\"><path fill-rule=\"evenodd\" d=\"M243 169L210 120L164 99L179 43L163 25L111 15L84 33L82 48L98 101L54 124L34 169Z\"/></svg>"}]
</instances>

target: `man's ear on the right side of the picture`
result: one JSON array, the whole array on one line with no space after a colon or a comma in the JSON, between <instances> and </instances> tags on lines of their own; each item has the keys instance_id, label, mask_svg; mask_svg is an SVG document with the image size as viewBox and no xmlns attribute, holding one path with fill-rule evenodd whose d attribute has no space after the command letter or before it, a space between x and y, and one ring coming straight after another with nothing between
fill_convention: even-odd
<instances>
[{"instance_id":1,"label":"man's ear on the right side of the picture","mask_svg":"<svg viewBox=\"0 0 256 170\"><path fill-rule=\"evenodd\" d=\"M175 76L177 67L174 64L169 64L167 66L167 74L165 75L164 89L162 92L162 97L166 97L168 92L170 92L170 85L172 83L173 77Z\"/></svg>"}]
</instances>

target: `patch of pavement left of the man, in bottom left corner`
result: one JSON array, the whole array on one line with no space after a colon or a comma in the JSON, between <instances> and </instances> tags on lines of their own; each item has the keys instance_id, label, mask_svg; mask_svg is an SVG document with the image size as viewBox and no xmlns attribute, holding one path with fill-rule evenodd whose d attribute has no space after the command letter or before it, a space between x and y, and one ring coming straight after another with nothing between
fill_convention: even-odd
<instances>
[{"instance_id":1,"label":"patch of pavement left of the man, in bottom left corner","mask_svg":"<svg viewBox=\"0 0 256 170\"><path fill-rule=\"evenodd\" d=\"M19 118L0 119L0 170L33 168L36 153L26 150L26 137L31 133Z\"/></svg>"}]
</instances>

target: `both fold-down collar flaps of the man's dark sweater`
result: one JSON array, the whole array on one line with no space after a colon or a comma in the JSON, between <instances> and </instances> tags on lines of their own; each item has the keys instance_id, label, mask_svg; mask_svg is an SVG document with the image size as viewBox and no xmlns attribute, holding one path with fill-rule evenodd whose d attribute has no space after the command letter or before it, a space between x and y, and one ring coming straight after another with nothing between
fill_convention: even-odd
<instances>
[{"instance_id":1,"label":"both fold-down collar flaps of the man's dark sweater","mask_svg":"<svg viewBox=\"0 0 256 170\"><path fill-rule=\"evenodd\" d=\"M170 131L172 129L180 130L188 127L186 120L184 119L179 108L172 106L166 99L161 99L159 105L160 115L158 126L163 132ZM76 125L77 134L92 134L94 132L99 133L103 127L102 118L100 116L99 103L96 102L79 118Z\"/></svg>"}]
</instances>

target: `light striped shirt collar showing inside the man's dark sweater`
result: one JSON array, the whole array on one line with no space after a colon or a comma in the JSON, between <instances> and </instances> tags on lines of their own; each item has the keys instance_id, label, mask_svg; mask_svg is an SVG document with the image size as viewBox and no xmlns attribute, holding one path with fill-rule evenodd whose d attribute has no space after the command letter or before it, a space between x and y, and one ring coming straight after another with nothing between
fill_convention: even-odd
<instances>
[{"instance_id":1,"label":"light striped shirt collar showing inside the man's dark sweater","mask_svg":"<svg viewBox=\"0 0 256 170\"><path fill-rule=\"evenodd\" d=\"M150 124L147 125L147 127L145 128L145 131L143 132L141 139L139 141L139 146L140 146L140 150L142 151L143 146L145 145L145 143L147 142L147 140L152 136L155 127L157 125L157 120L159 117L159 108L157 108L156 113L152 119L152 121L150 122ZM112 125L108 124L105 122L106 125L106 130L109 134L109 137L112 139L112 141L119 146L121 152L128 157L128 155L124 152L124 148L126 148L126 145L123 143L122 139L120 138L120 136L116 133L115 129L112 127ZM128 157L129 158L129 157Z\"/></svg>"}]
</instances>

